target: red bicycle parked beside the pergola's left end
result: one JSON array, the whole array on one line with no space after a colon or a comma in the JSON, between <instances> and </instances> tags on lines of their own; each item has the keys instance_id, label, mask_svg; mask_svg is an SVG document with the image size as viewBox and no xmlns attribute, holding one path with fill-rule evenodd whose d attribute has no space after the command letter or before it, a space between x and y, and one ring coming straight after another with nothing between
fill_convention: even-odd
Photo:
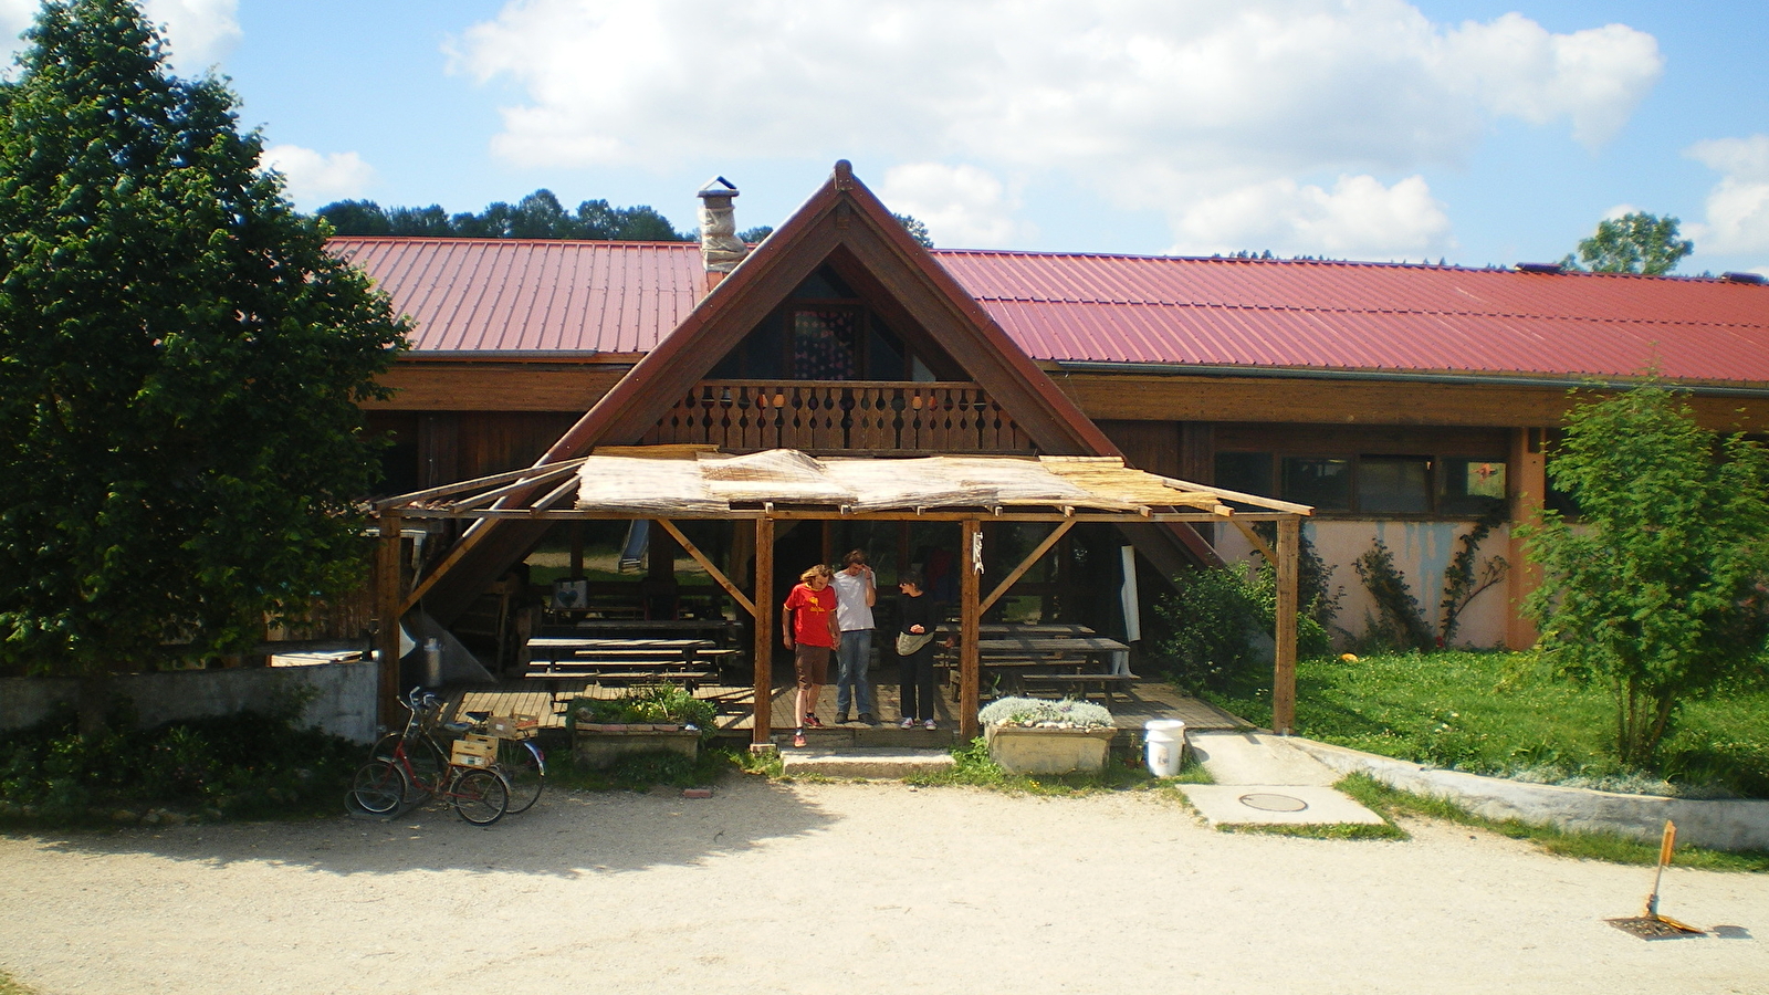
<instances>
[{"instance_id":1,"label":"red bicycle parked beside the pergola's left end","mask_svg":"<svg viewBox=\"0 0 1769 995\"><path fill-rule=\"evenodd\" d=\"M490 758L485 767L455 763L432 735L442 701L414 687L400 705L412 717L405 721L403 731L389 733L375 744L375 760L356 772L350 802L368 814L391 816L402 807L440 797L472 825L492 825L504 818L509 811L509 781L494 768Z\"/></svg>"}]
</instances>

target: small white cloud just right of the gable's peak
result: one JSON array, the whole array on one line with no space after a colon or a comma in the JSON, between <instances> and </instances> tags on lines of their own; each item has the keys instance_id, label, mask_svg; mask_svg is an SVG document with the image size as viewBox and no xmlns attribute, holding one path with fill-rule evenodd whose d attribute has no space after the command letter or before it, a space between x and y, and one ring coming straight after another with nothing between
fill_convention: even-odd
<instances>
[{"instance_id":1,"label":"small white cloud just right of the gable's peak","mask_svg":"<svg viewBox=\"0 0 1769 995\"><path fill-rule=\"evenodd\" d=\"M879 197L900 214L927 225L934 244L1005 248L1037 232L1014 220L1019 198L992 174L969 165L909 163L884 174Z\"/></svg>"}]
</instances>

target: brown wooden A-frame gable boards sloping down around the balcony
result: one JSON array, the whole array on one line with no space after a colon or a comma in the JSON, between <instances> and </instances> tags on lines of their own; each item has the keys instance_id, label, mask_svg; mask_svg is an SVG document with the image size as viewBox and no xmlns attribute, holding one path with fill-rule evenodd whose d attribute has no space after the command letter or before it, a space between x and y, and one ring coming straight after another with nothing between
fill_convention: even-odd
<instances>
[{"instance_id":1,"label":"brown wooden A-frame gable boards sloping down around the balcony","mask_svg":"<svg viewBox=\"0 0 1769 995\"><path fill-rule=\"evenodd\" d=\"M547 450L538 466L577 459L596 446L647 441L672 407L823 267L906 340L950 358L989 404L1007 413L1033 450L1047 455L1123 455L854 179L844 159L835 165L830 181L716 282L656 349ZM759 448L773 444L780 441ZM1182 556L1176 545L1187 547L1194 561L1214 561L1208 544L1189 528L1150 529L1155 535L1136 538L1159 567L1176 567ZM508 570L543 531L543 522L479 522L419 582L410 600L423 600L433 616L451 620L486 579Z\"/></svg>"}]
</instances>

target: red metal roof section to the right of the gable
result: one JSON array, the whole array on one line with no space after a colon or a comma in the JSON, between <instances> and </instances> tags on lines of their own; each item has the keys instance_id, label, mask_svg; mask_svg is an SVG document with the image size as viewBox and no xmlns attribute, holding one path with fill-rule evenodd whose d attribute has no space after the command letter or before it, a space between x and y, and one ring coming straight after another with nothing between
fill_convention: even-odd
<instances>
[{"instance_id":1,"label":"red metal roof section to the right of the gable","mask_svg":"<svg viewBox=\"0 0 1769 995\"><path fill-rule=\"evenodd\" d=\"M1035 359L1769 381L1769 287L1452 266L936 251Z\"/></svg>"}]
</instances>

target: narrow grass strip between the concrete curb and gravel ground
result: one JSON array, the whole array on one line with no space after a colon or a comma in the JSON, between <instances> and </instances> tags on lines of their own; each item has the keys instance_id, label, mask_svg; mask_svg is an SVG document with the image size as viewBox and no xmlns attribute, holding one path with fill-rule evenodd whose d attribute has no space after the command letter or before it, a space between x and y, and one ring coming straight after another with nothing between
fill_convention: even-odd
<instances>
[{"instance_id":1,"label":"narrow grass strip between the concrete curb and gravel ground","mask_svg":"<svg viewBox=\"0 0 1769 995\"><path fill-rule=\"evenodd\" d=\"M1658 843L1642 843L1608 832L1566 832L1550 825L1532 825L1518 820L1489 820L1444 798L1398 791L1366 774L1352 774L1334 784L1334 788L1389 820L1390 825L1398 816L1436 818L1456 825L1484 829L1511 839L1527 839L1548 853L1578 860L1652 866L1658 864L1659 857ZM1405 839L1405 832L1399 837ZM1707 871L1769 873L1769 853L1760 850L1725 852L1705 850L1702 846L1679 846L1672 857L1672 864Z\"/></svg>"}]
</instances>

